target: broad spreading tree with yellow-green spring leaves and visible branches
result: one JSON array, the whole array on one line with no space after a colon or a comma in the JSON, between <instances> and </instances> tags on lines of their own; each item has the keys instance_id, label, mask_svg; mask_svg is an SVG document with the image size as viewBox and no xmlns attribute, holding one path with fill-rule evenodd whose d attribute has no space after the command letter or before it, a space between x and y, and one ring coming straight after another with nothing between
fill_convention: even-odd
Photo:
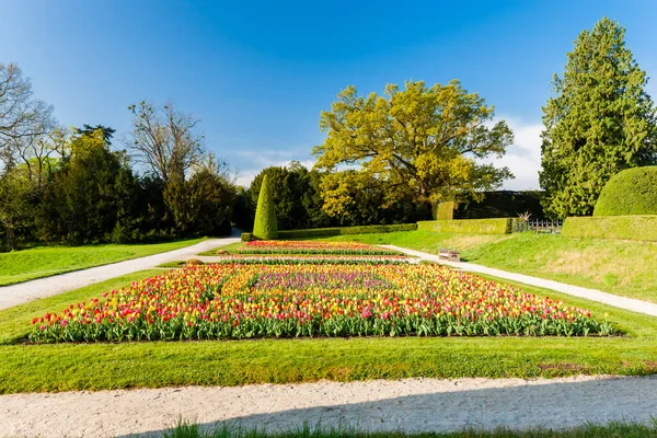
<instances>
[{"instance_id":1,"label":"broad spreading tree with yellow-green spring leaves and visible branches","mask_svg":"<svg viewBox=\"0 0 657 438\"><path fill-rule=\"evenodd\" d=\"M366 97L348 87L321 114L326 139L313 149L316 169L359 165L388 201L411 197L435 205L479 196L512 177L508 169L485 163L503 157L514 140L494 115L493 106L456 80L431 88L408 81L404 90L389 84L384 95Z\"/></svg>"}]
</instances>

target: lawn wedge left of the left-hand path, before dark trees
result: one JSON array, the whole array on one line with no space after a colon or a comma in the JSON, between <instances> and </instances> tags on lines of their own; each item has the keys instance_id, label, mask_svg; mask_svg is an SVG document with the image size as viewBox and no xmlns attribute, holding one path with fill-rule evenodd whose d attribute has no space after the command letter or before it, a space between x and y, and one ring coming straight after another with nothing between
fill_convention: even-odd
<instances>
[{"instance_id":1,"label":"lawn wedge left of the left-hand path, before dark trees","mask_svg":"<svg viewBox=\"0 0 657 438\"><path fill-rule=\"evenodd\" d=\"M164 253L201 240L147 245L54 246L0 253L0 286Z\"/></svg>"}]
</instances>

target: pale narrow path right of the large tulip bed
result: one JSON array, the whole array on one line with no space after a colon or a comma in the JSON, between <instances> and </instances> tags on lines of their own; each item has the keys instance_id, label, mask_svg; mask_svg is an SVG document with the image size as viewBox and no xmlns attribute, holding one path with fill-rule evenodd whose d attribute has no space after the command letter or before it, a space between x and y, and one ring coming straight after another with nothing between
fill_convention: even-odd
<instances>
[{"instance_id":1,"label":"pale narrow path right of the large tulip bed","mask_svg":"<svg viewBox=\"0 0 657 438\"><path fill-rule=\"evenodd\" d=\"M414 255L422 260L437 262L441 265L448 265L457 267L459 269L468 270L471 273L486 274L494 277L505 278L507 280L523 283L526 285L538 286L545 289L556 290L557 292L572 295L574 297L586 298L587 300L602 302L604 304L613 306L620 309L631 310L637 313L644 313L650 316L657 316L657 304L637 300L634 298L620 297L618 295L607 293L601 290L587 289L579 286L566 285L565 283L558 283L553 280L546 280L543 278L532 277L523 274L509 273L507 270L495 269L474 263L468 262L449 262L439 258L436 254L429 254L422 251L408 250L406 247L395 245L381 245L391 250L395 250L408 255Z\"/></svg>"}]
</instances>

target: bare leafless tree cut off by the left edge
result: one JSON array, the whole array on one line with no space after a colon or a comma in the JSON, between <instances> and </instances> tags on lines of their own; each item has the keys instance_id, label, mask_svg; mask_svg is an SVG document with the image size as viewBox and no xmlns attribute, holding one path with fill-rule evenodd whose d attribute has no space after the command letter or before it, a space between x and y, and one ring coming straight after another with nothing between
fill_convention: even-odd
<instances>
[{"instance_id":1,"label":"bare leafless tree cut off by the left edge","mask_svg":"<svg viewBox=\"0 0 657 438\"><path fill-rule=\"evenodd\" d=\"M19 159L19 149L55 126L53 106L32 97L32 83L15 64L0 64L0 158L5 168ZM19 149L16 149L16 147Z\"/></svg>"}]
</instances>

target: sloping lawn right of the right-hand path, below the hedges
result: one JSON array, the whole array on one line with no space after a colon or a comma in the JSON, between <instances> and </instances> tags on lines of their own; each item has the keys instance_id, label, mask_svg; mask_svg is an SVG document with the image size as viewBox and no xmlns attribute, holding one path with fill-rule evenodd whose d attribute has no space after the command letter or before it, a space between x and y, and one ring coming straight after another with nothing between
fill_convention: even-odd
<instances>
[{"instance_id":1,"label":"sloping lawn right of the right-hand path, below the hedges","mask_svg":"<svg viewBox=\"0 0 657 438\"><path fill-rule=\"evenodd\" d=\"M438 253L459 250L461 260L657 302L657 242L570 239L532 232L506 235L428 231L326 238L393 244Z\"/></svg>"}]
</instances>

